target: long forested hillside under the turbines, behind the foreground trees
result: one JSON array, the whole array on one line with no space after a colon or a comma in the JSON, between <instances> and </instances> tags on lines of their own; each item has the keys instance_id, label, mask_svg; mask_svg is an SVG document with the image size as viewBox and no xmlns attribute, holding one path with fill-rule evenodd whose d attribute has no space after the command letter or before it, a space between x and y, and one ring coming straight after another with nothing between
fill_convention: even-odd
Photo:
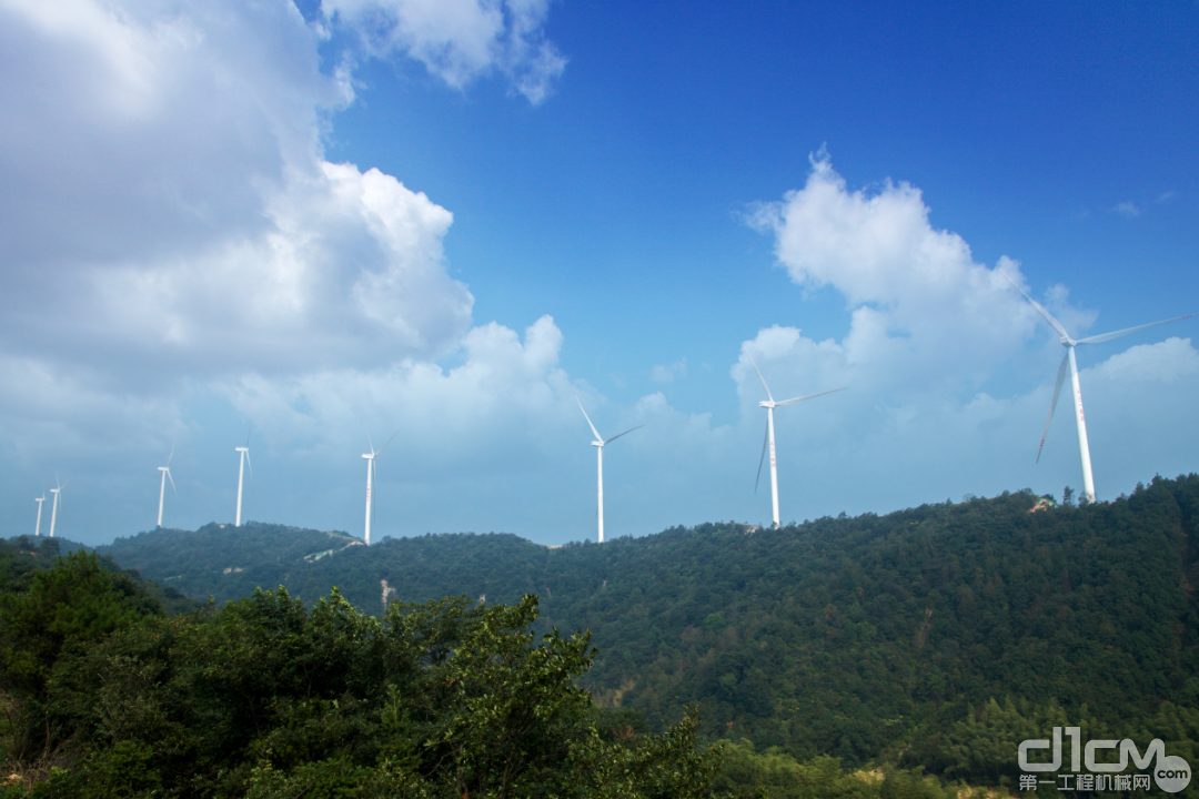
<instances>
[{"instance_id":1,"label":"long forested hillside under the turbines, behind the foreground trees","mask_svg":"<svg viewBox=\"0 0 1199 799\"><path fill-rule=\"evenodd\" d=\"M560 549L429 535L281 564L259 585L309 600L337 585L372 612L382 581L392 601L537 593L543 623L592 631L601 701L655 726L698 702L709 734L799 757L902 753L988 780L1068 719L1199 762L1199 476L1086 507L1037 500ZM125 545L122 564L171 576Z\"/></svg>"}]
</instances>

